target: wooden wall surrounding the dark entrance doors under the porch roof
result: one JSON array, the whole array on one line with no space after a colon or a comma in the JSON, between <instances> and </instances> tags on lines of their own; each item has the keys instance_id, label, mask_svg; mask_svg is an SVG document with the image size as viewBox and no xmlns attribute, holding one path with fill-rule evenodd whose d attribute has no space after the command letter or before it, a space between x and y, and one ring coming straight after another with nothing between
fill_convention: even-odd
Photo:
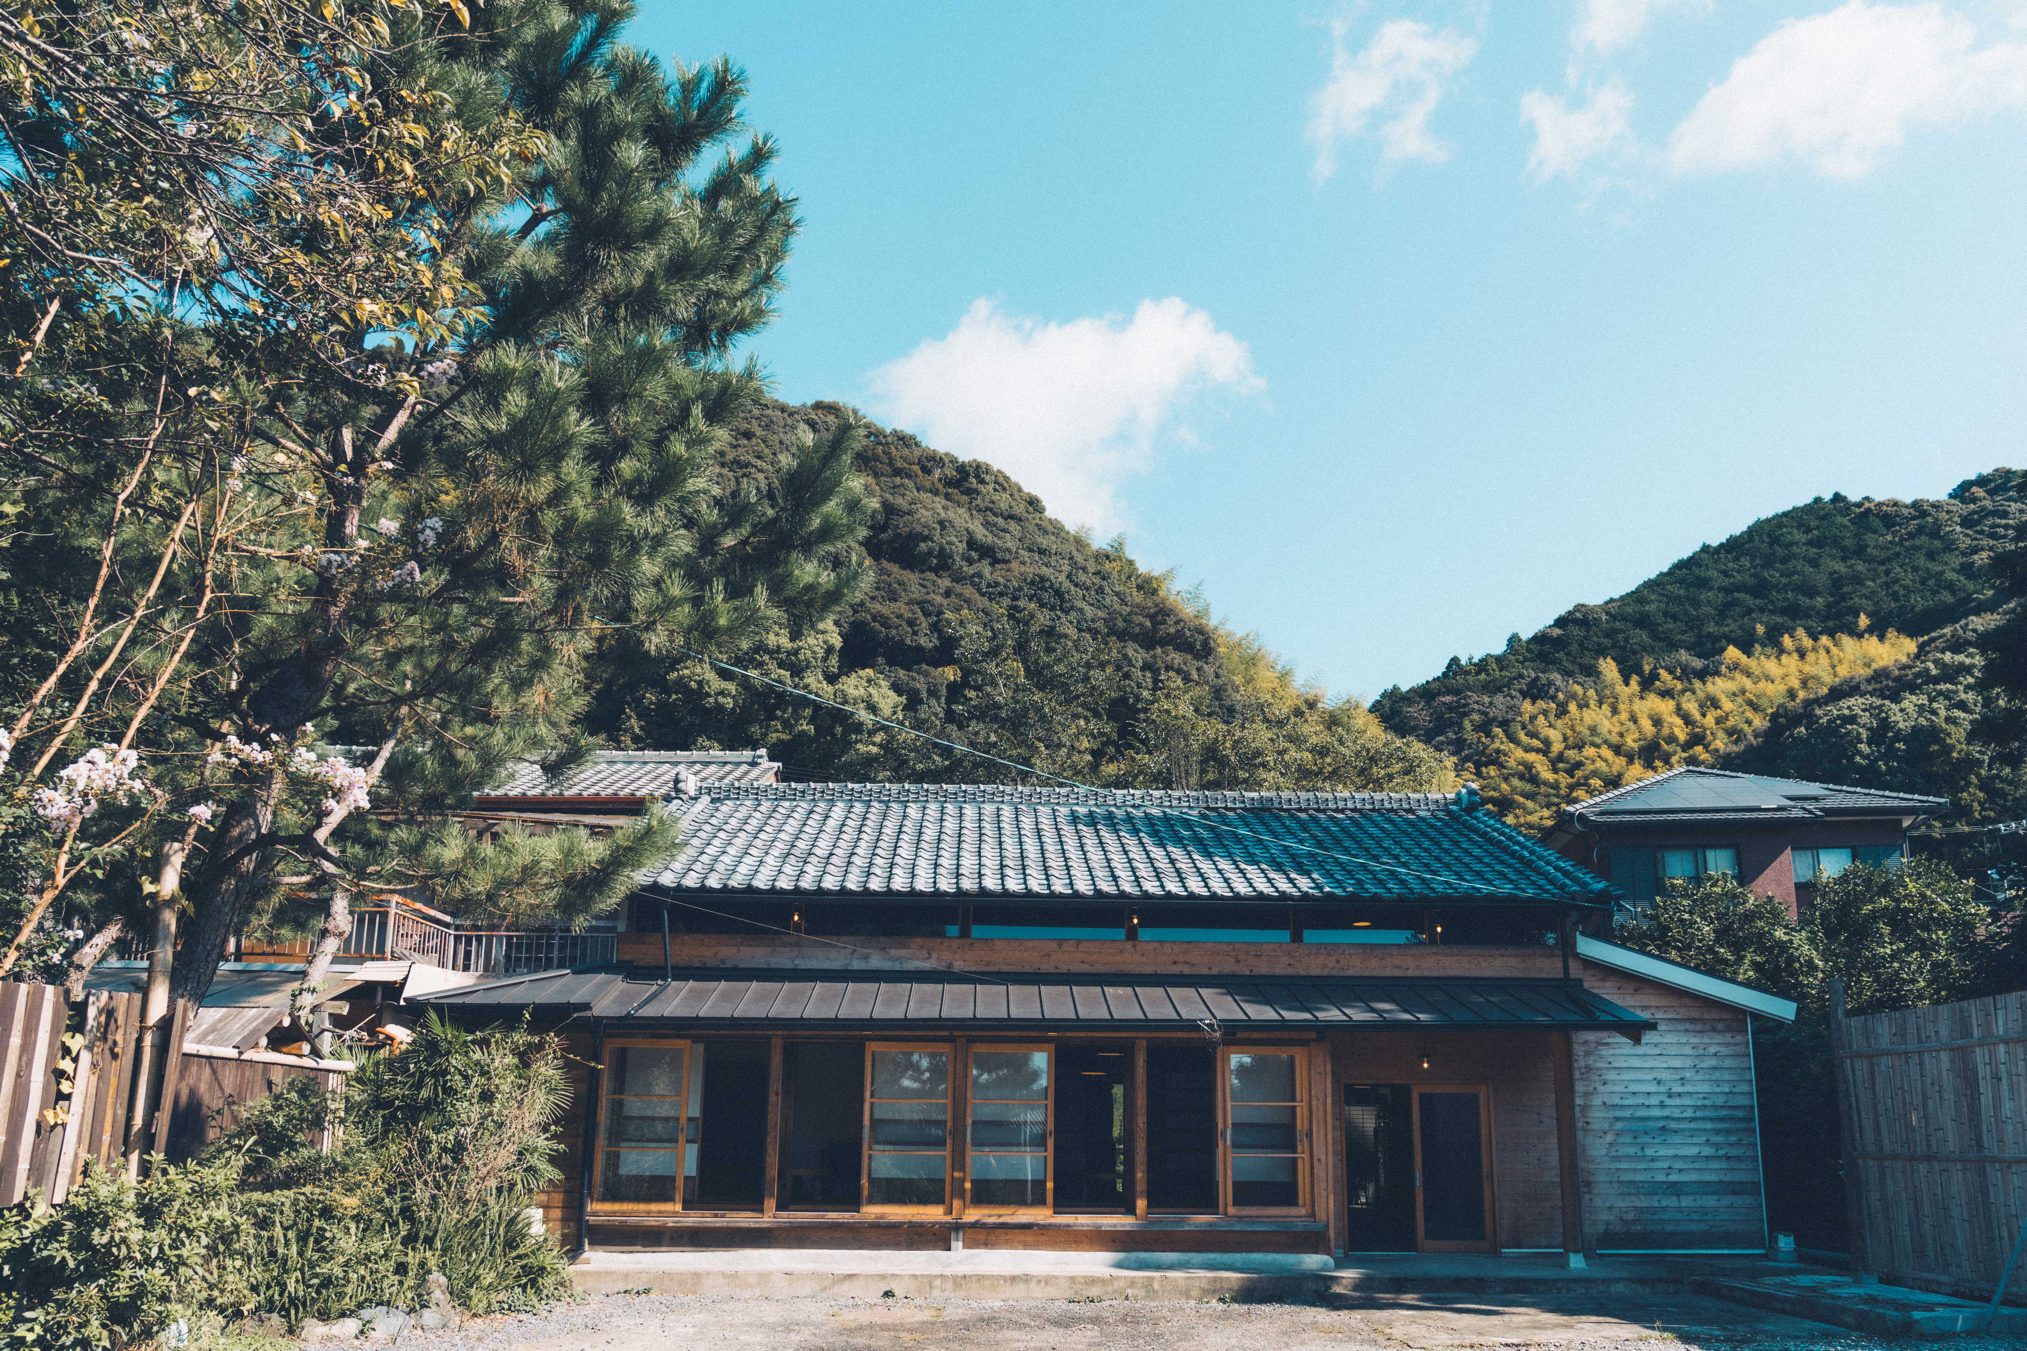
<instances>
[{"instance_id":1,"label":"wooden wall surrounding the dark entrance doors under the porch roof","mask_svg":"<svg viewBox=\"0 0 2027 1351\"><path fill-rule=\"evenodd\" d=\"M1332 1175L1344 1177L1346 1084L1486 1084L1492 1088L1492 1199L1500 1248L1557 1248L1563 1197L1555 1161L1555 1074L1538 1031L1429 1033L1374 1029L1330 1035ZM1423 1045L1429 1067L1421 1067ZM1342 1183L1340 1183L1342 1187ZM1332 1246L1344 1246L1344 1199L1330 1197Z\"/></svg>"}]
</instances>

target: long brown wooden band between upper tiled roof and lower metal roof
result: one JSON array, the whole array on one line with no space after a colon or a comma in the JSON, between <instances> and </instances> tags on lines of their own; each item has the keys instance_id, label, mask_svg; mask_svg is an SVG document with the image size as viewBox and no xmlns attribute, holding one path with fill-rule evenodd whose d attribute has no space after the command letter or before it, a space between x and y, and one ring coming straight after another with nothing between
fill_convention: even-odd
<instances>
[{"instance_id":1,"label":"long brown wooden band between upper tiled roof and lower metal roof","mask_svg":"<svg viewBox=\"0 0 2027 1351\"><path fill-rule=\"evenodd\" d=\"M748 970L1046 970L1139 976L1447 976L1470 980L1557 980L1555 948L1423 944L1176 944L1078 938L851 938L837 948L768 934L677 934L677 968ZM661 934L620 934L618 960L661 970Z\"/></svg>"}]
</instances>

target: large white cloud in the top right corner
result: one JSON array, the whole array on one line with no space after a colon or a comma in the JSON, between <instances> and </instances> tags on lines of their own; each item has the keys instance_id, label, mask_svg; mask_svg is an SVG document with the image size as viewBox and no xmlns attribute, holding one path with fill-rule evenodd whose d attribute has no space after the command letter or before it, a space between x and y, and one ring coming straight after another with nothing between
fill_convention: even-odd
<instances>
[{"instance_id":1,"label":"large white cloud in the top right corner","mask_svg":"<svg viewBox=\"0 0 2027 1351\"><path fill-rule=\"evenodd\" d=\"M1784 158L1857 180L1911 130L1958 126L2027 103L2027 45L1978 47L1942 4L1865 4L1796 18L1731 65L1674 130L1678 174Z\"/></svg>"}]
</instances>

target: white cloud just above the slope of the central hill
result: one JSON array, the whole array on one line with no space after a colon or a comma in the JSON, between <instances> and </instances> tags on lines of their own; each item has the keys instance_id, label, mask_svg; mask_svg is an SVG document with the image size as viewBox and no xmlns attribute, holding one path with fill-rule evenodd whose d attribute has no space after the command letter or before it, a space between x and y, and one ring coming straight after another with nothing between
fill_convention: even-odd
<instances>
[{"instance_id":1,"label":"white cloud just above the slope of the central hill","mask_svg":"<svg viewBox=\"0 0 2027 1351\"><path fill-rule=\"evenodd\" d=\"M1040 324L975 300L945 338L872 375L882 415L985 460L1068 525L1119 527L1115 492L1196 393L1261 389L1247 344L1182 300Z\"/></svg>"}]
</instances>

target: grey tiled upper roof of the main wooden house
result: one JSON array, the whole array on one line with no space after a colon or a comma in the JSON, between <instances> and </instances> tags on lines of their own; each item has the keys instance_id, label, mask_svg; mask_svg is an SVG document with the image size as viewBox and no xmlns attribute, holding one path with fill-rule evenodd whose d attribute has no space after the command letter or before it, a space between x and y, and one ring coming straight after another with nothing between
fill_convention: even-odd
<instances>
[{"instance_id":1,"label":"grey tiled upper roof of the main wooden house","mask_svg":"<svg viewBox=\"0 0 2027 1351\"><path fill-rule=\"evenodd\" d=\"M675 798L677 893L1563 901L1611 887L1441 794L746 784Z\"/></svg>"}]
</instances>

